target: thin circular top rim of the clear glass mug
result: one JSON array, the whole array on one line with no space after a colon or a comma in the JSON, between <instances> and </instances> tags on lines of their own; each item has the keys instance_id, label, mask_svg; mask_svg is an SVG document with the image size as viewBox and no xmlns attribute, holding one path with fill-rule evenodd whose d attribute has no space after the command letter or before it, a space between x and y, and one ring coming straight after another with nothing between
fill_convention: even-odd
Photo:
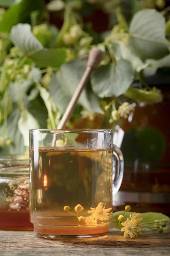
<instances>
[{"instance_id":1,"label":"thin circular top rim of the clear glass mug","mask_svg":"<svg viewBox=\"0 0 170 256\"><path fill-rule=\"evenodd\" d=\"M112 129L30 129L29 132L47 133L50 132L68 132L68 133L109 133Z\"/></svg>"}]
</instances>

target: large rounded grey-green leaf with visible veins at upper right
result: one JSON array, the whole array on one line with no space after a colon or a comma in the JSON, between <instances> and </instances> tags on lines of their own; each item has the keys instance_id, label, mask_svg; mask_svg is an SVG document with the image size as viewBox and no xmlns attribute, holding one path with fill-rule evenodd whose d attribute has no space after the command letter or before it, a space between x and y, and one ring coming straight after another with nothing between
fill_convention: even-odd
<instances>
[{"instance_id":1,"label":"large rounded grey-green leaf with visible veins at upper right","mask_svg":"<svg viewBox=\"0 0 170 256\"><path fill-rule=\"evenodd\" d=\"M155 9L137 12L130 22L129 44L142 60L168 55L164 17Z\"/></svg>"}]
</instances>

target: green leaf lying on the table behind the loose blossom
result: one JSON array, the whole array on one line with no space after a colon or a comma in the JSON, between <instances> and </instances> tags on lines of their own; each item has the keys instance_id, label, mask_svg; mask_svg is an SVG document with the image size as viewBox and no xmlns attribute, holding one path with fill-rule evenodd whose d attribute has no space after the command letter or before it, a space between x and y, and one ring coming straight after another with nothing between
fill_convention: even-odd
<instances>
[{"instance_id":1,"label":"green leaf lying on the table behind the loose blossom","mask_svg":"<svg viewBox=\"0 0 170 256\"><path fill-rule=\"evenodd\" d=\"M124 211L119 211L119 212L113 212L112 214L112 223L111 223L111 226L112 227L116 227L116 228L119 228L121 229L122 226L120 227L119 226L119 220L118 220L118 217L119 215L123 215ZM132 215L133 212L125 212L125 220L127 218L130 218L130 214ZM170 221L170 218L162 213L159 213L159 212L144 212L142 213L142 217L144 218L143 222L144 223L154 223L155 221L155 218L158 219L158 220L163 220L163 219L166 219L167 221Z\"/></svg>"}]
</instances>

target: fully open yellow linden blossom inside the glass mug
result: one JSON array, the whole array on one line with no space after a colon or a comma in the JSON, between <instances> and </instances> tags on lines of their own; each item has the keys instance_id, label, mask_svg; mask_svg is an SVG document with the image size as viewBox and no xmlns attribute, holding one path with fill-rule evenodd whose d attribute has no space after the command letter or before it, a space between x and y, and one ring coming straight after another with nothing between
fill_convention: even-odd
<instances>
[{"instance_id":1,"label":"fully open yellow linden blossom inside the glass mug","mask_svg":"<svg viewBox=\"0 0 170 256\"><path fill-rule=\"evenodd\" d=\"M90 213L96 221L106 221L111 218L112 212L110 211L112 210L112 208L105 209L105 207L106 204L100 202L96 208L91 207L91 210L88 211L88 213Z\"/></svg>"}]
</instances>

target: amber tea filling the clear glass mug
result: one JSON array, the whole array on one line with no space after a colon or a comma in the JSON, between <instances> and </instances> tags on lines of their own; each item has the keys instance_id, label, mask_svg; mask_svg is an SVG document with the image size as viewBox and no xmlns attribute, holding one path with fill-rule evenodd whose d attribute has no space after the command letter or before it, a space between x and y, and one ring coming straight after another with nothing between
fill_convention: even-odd
<instances>
[{"instance_id":1,"label":"amber tea filling the clear glass mug","mask_svg":"<svg viewBox=\"0 0 170 256\"><path fill-rule=\"evenodd\" d=\"M31 221L35 232L107 233L112 214L112 160L112 149L42 148L37 156L31 149Z\"/></svg>"}]
</instances>

